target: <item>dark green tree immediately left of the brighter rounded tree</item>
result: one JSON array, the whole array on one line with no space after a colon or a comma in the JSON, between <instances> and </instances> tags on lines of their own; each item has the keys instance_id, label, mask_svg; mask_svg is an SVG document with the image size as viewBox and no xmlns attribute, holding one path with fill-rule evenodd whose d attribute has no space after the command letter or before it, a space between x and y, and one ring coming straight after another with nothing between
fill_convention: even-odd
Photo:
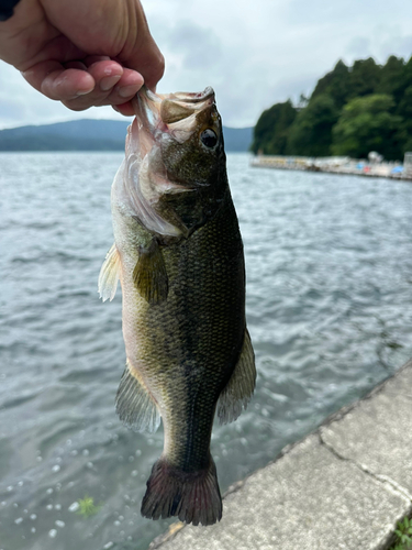
<instances>
[{"instance_id":1,"label":"dark green tree immediately left of the brighter rounded tree","mask_svg":"<svg viewBox=\"0 0 412 550\"><path fill-rule=\"evenodd\" d=\"M298 114L289 133L287 153L303 156L331 154L332 128L339 111L327 95L311 98L307 108Z\"/></svg>"}]
</instances>

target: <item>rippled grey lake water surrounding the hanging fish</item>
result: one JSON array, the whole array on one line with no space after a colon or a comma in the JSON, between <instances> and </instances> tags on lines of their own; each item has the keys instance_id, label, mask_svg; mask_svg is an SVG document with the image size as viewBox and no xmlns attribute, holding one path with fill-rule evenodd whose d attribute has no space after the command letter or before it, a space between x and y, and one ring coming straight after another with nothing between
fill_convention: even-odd
<instances>
[{"instance_id":1,"label":"rippled grey lake water surrounding the hanging fish","mask_svg":"<svg viewBox=\"0 0 412 550\"><path fill-rule=\"evenodd\" d=\"M121 161L0 155L1 550L140 550L174 521L141 517L163 430L115 415L121 293L97 294ZM222 491L412 356L412 186L227 161L258 378L213 431Z\"/></svg>"}]
</instances>

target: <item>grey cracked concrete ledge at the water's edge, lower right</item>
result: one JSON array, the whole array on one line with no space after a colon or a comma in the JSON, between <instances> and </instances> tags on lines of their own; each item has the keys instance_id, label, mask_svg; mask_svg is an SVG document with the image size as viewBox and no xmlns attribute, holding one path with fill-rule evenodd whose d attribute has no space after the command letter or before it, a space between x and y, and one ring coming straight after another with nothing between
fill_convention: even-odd
<instances>
[{"instance_id":1,"label":"grey cracked concrete ledge at the water's edge, lower right","mask_svg":"<svg viewBox=\"0 0 412 550\"><path fill-rule=\"evenodd\" d=\"M412 361L149 550L386 550L412 513Z\"/></svg>"}]
</instances>

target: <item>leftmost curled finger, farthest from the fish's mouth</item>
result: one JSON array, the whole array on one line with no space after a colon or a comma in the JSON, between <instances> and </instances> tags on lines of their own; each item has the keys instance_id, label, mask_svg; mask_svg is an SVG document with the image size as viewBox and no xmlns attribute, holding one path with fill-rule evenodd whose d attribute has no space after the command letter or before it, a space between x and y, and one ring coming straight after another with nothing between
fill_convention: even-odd
<instances>
[{"instance_id":1,"label":"leftmost curled finger, farthest from the fish's mouth","mask_svg":"<svg viewBox=\"0 0 412 550\"><path fill-rule=\"evenodd\" d=\"M94 89L94 79L86 70L65 68L60 63L42 62L22 73L36 90L51 99L66 100Z\"/></svg>"}]
</instances>

